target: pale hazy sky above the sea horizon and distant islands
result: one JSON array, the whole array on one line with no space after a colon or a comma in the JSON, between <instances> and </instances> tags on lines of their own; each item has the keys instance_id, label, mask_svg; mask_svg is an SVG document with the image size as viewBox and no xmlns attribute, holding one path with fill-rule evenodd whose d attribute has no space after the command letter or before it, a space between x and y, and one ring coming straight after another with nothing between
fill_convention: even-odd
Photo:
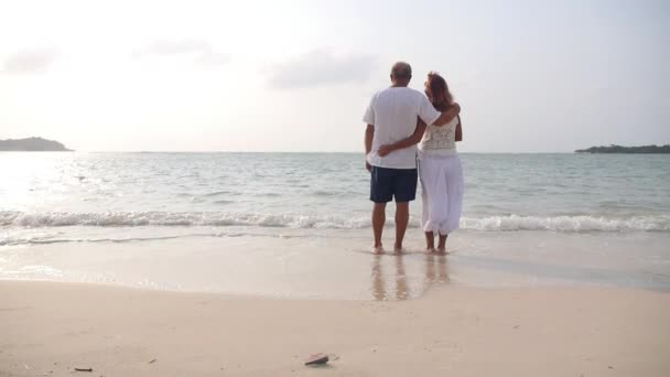
<instances>
[{"instance_id":1,"label":"pale hazy sky above the sea horizon and distant islands","mask_svg":"<svg viewBox=\"0 0 670 377\"><path fill-rule=\"evenodd\" d=\"M363 151L396 61L463 152L670 143L670 2L0 0L0 139L79 151Z\"/></svg>"}]
</instances>

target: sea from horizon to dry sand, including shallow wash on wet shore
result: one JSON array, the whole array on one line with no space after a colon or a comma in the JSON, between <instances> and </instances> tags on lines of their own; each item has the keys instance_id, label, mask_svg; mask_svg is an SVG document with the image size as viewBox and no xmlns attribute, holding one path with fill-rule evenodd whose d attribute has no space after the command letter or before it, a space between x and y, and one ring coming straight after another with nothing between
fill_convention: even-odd
<instances>
[{"instance_id":1,"label":"sea from horizon to dry sand, including shallow wash on wet shore","mask_svg":"<svg viewBox=\"0 0 670 377\"><path fill-rule=\"evenodd\" d=\"M397 258L369 255L360 153L0 153L0 278L389 299L446 282L670 288L670 155L461 160L453 254L421 254L419 186Z\"/></svg>"}]
</instances>

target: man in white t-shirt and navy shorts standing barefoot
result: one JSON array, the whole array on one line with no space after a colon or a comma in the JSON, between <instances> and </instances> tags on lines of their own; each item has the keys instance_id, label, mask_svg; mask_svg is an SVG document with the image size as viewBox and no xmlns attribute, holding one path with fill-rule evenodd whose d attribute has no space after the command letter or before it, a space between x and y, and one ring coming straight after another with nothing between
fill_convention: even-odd
<instances>
[{"instance_id":1,"label":"man in white t-shirt and navy shorts standing barefoot","mask_svg":"<svg viewBox=\"0 0 670 377\"><path fill-rule=\"evenodd\" d=\"M447 111L435 110L425 95L408 88L412 68L404 62L393 64L391 87L378 91L370 99L363 121L365 132L366 168L370 172L370 201L372 209L374 252L382 254L381 233L386 223L386 204L396 198L396 254L402 252L402 239L407 230L409 202L417 195L417 146L396 150L385 157L379 147L409 138L414 132L423 134L425 125L443 126L458 115L456 105ZM422 122L418 122L421 119Z\"/></svg>"}]
</instances>

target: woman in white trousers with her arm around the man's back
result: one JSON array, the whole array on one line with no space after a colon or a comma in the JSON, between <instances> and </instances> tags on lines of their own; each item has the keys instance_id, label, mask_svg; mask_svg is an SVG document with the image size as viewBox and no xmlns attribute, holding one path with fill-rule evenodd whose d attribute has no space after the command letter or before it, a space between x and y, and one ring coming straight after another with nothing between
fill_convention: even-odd
<instances>
[{"instance_id":1,"label":"woman in white trousers with her arm around the man's back","mask_svg":"<svg viewBox=\"0 0 670 377\"><path fill-rule=\"evenodd\" d=\"M436 110L445 111L454 106L452 94L440 74L430 72L425 82L425 95ZM425 130L425 131L424 131ZM421 180L423 218L428 252L446 254L446 237L458 228L463 206L463 168L456 152L456 141L463 140L461 117L444 126L421 121L408 139L379 149L388 154L419 142L419 177ZM435 250L435 234L440 236Z\"/></svg>"}]
</instances>

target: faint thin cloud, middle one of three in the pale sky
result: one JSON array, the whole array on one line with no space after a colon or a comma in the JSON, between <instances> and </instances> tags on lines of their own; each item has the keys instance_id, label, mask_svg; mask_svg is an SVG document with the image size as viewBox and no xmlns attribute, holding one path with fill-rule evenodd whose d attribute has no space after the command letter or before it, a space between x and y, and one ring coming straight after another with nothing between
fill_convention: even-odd
<instances>
[{"instance_id":1,"label":"faint thin cloud, middle one of three in the pale sky","mask_svg":"<svg viewBox=\"0 0 670 377\"><path fill-rule=\"evenodd\" d=\"M217 52L209 42L202 40L156 41L133 54L134 57L190 56L194 63L205 66L220 66L230 61L230 55Z\"/></svg>"}]
</instances>

